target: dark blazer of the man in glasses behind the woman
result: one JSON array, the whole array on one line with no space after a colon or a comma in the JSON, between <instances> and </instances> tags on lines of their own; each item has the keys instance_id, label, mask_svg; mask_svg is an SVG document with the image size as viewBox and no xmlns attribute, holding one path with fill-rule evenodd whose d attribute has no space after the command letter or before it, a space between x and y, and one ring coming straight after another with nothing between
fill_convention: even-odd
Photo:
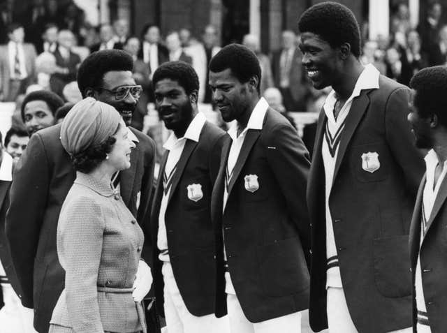
<instances>
[{"instance_id":1,"label":"dark blazer of the man in glasses behind the woman","mask_svg":"<svg viewBox=\"0 0 447 333\"><path fill-rule=\"evenodd\" d=\"M22 304L34 308L34 327L47 332L54 305L64 289L64 270L59 264L56 231L59 212L75 180L70 157L59 140L61 124L31 136L14 172L6 236L13 265L22 288ZM126 206L145 230L154 171L155 144L131 128L140 142L131 154L131 168L120 173ZM140 205L137 209L137 200ZM24 205L27 209L24 209ZM142 256L149 262L150 237Z\"/></svg>"}]
</instances>

